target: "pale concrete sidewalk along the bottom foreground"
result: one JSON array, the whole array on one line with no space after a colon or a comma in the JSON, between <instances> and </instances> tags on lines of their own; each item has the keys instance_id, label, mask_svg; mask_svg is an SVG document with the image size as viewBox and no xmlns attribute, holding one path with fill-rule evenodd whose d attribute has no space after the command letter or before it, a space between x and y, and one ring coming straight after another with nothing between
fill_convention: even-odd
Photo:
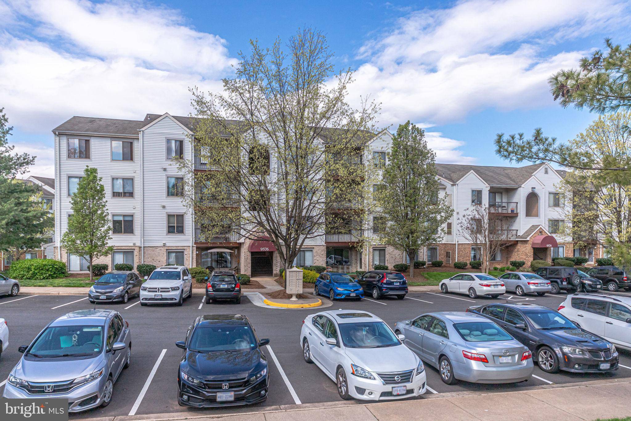
<instances>
[{"instance_id":1,"label":"pale concrete sidewalk along the bottom foreground","mask_svg":"<svg viewBox=\"0 0 631 421\"><path fill-rule=\"evenodd\" d=\"M290 420L428 420L428 421L580 421L631 415L631 379L606 379L574 384L550 384L511 392L426 394L422 399L382 403L307 403L268 406L257 412L217 414L191 410L180 413L84 418L91 421L226 421Z\"/></svg>"}]
</instances>

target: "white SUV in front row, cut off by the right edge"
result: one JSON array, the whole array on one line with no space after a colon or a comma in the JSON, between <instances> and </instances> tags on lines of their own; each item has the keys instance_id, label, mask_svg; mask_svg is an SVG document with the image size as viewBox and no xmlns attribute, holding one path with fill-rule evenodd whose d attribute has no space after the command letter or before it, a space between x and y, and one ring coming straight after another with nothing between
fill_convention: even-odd
<instances>
[{"instance_id":1,"label":"white SUV in front row, cut off by the right edge","mask_svg":"<svg viewBox=\"0 0 631 421\"><path fill-rule=\"evenodd\" d=\"M631 350L631 297L572 294L558 306L558 312L616 347Z\"/></svg>"}]
</instances>

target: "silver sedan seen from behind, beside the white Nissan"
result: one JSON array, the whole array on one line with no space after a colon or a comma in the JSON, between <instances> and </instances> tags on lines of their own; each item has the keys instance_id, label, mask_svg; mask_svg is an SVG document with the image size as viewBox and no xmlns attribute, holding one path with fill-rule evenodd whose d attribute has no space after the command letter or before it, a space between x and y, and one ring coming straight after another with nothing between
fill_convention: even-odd
<instances>
[{"instance_id":1,"label":"silver sedan seen from behind, beside the white Nissan","mask_svg":"<svg viewBox=\"0 0 631 421\"><path fill-rule=\"evenodd\" d=\"M533 374L533 355L528 348L497 324L476 314L422 314L397 322L394 333L404 335L405 345L438 369L446 384L457 380L521 382Z\"/></svg>"}]
</instances>

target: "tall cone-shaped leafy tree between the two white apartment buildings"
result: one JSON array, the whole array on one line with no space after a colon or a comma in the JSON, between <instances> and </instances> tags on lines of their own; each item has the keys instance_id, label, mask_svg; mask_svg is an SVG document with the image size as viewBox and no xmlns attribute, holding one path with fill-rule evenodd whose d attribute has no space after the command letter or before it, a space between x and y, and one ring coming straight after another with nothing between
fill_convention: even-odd
<instances>
[{"instance_id":1,"label":"tall cone-shaped leafy tree between the two white apartment buildings","mask_svg":"<svg viewBox=\"0 0 631 421\"><path fill-rule=\"evenodd\" d=\"M399 125L382 184L375 192L379 213L375 218L379 236L389 246L403 250L414 262L418 249L442 240L440 227L453 215L447 198L439 198L436 154L427 146L423 129L410 121ZM410 265L414 276L414 265Z\"/></svg>"}]
</instances>

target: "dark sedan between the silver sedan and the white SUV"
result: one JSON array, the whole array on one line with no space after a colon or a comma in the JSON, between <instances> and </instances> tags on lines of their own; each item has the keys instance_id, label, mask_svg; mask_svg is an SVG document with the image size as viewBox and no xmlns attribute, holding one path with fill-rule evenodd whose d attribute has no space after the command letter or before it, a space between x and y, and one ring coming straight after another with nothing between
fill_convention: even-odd
<instances>
[{"instance_id":1,"label":"dark sedan between the silver sedan and the white SUV","mask_svg":"<svg viewBox=\"0 0 631 421\"><path fill-rule=\"evenodd\" d=\"M533 353L533 361L549 373L611 372L618 369L618 351L609 341L572 323L543 305L487 304L469 307L502 326Z\"/></svg>"}]
</instances>

